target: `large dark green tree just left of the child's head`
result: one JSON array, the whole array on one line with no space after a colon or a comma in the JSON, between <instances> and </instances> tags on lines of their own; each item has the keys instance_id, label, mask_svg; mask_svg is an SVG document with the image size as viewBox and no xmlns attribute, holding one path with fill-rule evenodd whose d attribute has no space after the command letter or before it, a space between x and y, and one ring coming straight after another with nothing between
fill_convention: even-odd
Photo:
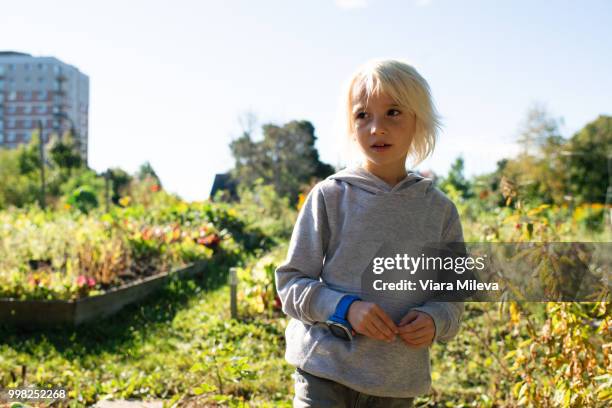
<instances>
[{"instance_id":1,"label":"large dark green tree just left of the child's head","mask_svg":"<svg viewBox=\"0 0 612 408\"><path fill-rule=\"evenodd\" d=\"M240 184L253 186L262 178L280 196L288 197L295 204L303 184L313 177L324 178L334 172L332 166L319 160L314 126L310 122L267 124L262 129L263 140L259 142L251 139L250 131L244 131L230 144L235 159L231 175Z\"/></svg>"}]
</instances>

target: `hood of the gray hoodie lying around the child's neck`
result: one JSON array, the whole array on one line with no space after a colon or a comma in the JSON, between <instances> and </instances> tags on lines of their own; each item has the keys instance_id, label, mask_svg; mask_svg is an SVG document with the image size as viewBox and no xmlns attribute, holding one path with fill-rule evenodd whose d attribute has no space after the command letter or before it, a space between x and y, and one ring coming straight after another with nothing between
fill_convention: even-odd
<instances>
[{"instance_id":1,"label":"hood of the gray hoodie lying around the child's neck","mask_svg":"<svg viewBox=\"0 0 612 408\"><path fill-rule=\"evenodd\" d=\"M422 197L432 186L432 180L408 171L404 179L391 187L383 179L361 166L348 167L327 177L328 180L344 181L373 194L399 194Z\"/></svg>"}]
</instances>

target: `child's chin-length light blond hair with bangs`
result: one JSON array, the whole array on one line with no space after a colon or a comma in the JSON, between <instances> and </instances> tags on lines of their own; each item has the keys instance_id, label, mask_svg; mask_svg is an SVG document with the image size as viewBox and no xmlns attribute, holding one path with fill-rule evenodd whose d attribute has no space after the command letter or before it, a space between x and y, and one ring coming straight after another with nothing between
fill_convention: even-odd
<instances>
[{"instance_id":1,"label":"child's chin-length light blond hair with bangs","mask_svg":"<svg viewBox=\"0 0 612 408\"><path fill-rule=\"evenodd\" d=\"M441 129L441 118L433 103L427 81L410 64L399 60L372 60L362 65L349 78L343 93L344 134L350 144L355 132L353 101L363 95L366 101L383 92L395 103L416 116L416 132L408 157L413 165L425 160L434 150ZM366 102L367 103L367 102Z\"/></svg>"}]
</instances>

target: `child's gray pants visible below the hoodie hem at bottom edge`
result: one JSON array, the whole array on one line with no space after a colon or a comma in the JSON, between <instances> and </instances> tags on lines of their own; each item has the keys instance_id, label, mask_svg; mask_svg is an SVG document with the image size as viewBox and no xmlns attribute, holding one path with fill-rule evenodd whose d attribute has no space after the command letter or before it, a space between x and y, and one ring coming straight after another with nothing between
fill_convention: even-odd
<instances>
[{"instance_id":1,"label":"child's gray pants visible below the hoodie hem at bottom edge","mask_svg":"<svg viewBox=\"0 0 612 408\"><path fill-rule=\"evenodd\" d=\"M293 408L409 408L413 398L375 397L297 368Z\"/></svg>"}]
</instances>

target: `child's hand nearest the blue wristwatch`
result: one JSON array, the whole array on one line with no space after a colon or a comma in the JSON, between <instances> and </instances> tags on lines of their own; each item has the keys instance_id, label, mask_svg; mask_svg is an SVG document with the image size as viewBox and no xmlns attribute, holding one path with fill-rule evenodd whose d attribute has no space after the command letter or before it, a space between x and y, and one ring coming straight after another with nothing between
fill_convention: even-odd
<instances>
[{"instance_id":1,"label":"child's hand nearest the blue wristwatch","mask_svg":"<svg viewBox=\"0 0 612 408\"><path fill-rule=\"evenodd\" d=\"M346 318L357 333L373 339L391 342L398 333L393 320L375 303L353 302Z\"/></svg>"}]
</instances>

